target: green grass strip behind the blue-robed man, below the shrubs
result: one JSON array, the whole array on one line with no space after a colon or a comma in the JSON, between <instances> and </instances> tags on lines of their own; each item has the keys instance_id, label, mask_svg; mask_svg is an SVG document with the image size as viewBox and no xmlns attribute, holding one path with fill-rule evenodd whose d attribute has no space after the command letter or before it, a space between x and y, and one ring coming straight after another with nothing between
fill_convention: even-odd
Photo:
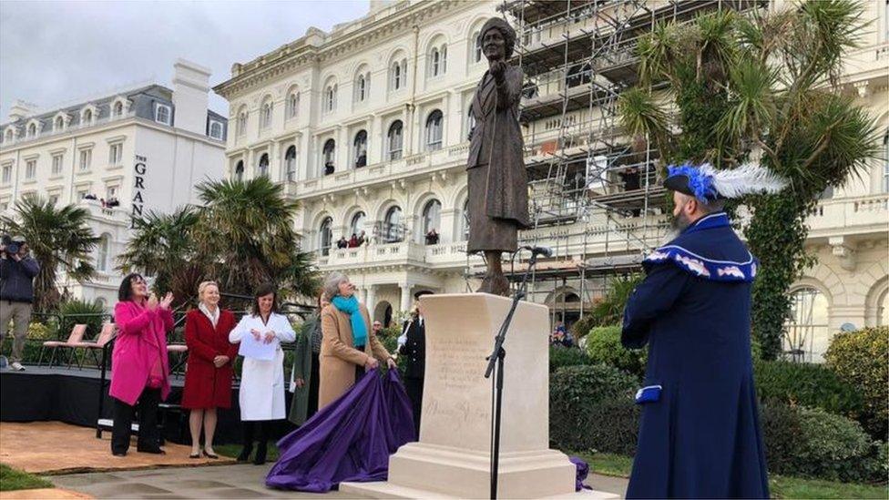
<instances>
[{"instance_id":1,"label":"green grass strip behind the blue-robed man, below the shrubs","mask_svg":"<svg viewBox=\"0 0 889 500\"><path fill-rule=\"evenodd\" d=\"M583 458L596 474L629 477L633 458L620 454L570 453ZM821 479L802 479L786 475L769 475L772 498L889 498L887 485L838 483Z\"/></svg>"}]
</instances>

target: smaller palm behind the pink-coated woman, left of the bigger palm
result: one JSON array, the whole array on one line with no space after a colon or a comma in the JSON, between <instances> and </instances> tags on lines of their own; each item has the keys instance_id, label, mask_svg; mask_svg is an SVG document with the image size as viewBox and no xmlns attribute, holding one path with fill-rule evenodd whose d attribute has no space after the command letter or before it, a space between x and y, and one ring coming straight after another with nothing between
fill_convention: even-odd
<instances>
[{"instance_id":1,"label":"smaller palm behind the pink-coated woman, left of the bigger palm","mask_svg":"<svg viewBox=\"0 0 889 500\"><path fill-rule=\"evenodd\" d=\"M198 222L198 211L192 207L171 214L149 211L135 220L127 249L118 256L118 269L153 276L154 291L172 291L178 301L188 301L206 275L207 260L194 240Z\"/></svg>"}]
</instances>

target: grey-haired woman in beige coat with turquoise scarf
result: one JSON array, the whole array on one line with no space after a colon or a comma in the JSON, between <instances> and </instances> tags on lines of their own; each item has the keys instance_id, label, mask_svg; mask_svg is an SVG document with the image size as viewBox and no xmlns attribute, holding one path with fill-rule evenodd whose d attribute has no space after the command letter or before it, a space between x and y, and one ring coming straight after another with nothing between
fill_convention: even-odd
<instances>
[{"instance_id":1,"label":"grey-haired woman in beige coat with turquoise scarf","mask_svg":"<svg viewBox=\"0 0 889 500\"><path fill-rule=\"evenodd\" d=\"M324 281L324 294L332 297L332 301L321 311L319 411L346 393L364 372L375 370L380 362L389 368L395 367L383 342L373 334L370 314L364 304L356 300L355 285L349 277L332 273ZM359 316L353 317L355 314ZM363 345L357 343L362 341Z\"/></svg>"}]
</instances>

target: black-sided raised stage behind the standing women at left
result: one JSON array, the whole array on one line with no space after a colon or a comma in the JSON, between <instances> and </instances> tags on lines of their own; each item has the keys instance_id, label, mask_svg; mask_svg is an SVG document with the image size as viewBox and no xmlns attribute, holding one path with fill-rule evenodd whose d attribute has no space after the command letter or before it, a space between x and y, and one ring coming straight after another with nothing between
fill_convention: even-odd
<instances>
[{"instance_id":1,"label":"black-sided raised stage behind the standing women at left","mask_svg":"<svg viewBox=\"0 0 889 500\"><path fill-rule=\"evenodd\" d=\"M99 418L112 418L113 401L108 396L108 383L110 381L102 388L104 402L99 415L101 372L97 369L26 365L24 372L0 370L0 422L58 421L96 427ZM160 422L167 440L189 444L189 411L179 409L183 383L181 377L171 380L172 390L164 402L167 407L161 409ZM215 444L241 441L238 389L235 385L231 390L231 408L219 410ZM286 393L285 400L289 409L290 393ZM293 428L291 423L283 421L276 434L286 434Z\"/></svg>"}]
</instances>

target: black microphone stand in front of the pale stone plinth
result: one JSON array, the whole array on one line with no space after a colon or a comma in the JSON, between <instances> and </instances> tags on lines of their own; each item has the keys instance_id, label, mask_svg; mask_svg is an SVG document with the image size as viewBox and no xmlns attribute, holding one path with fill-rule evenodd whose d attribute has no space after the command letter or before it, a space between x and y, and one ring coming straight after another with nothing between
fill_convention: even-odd
<instances>
[{"instance_id":1,"label":"black microphone stand in front of the pale stone plinth","mask_svg":"<svg viewBox=\"0 0 889 500\"><path fill-rule=\"evenodd\" d=\"M517 250L516 250L517 251ZM503 323L500 325L500 331L497 332L497 336L494 340L494 351L491 352L491 355L485 358L487 360L487 368L485 369L485 378L491 378L491 373L494 372L496 365L496 378L492 381L492 389L494 393L492 394L494 397L491 400L491 414L492 414L492 427L493 427L493 444L491 447L491 499L494 500L497 497L497 473L500 468L500 420L503 411L503 374L504 374L504 359L506 358L506 350L503 348L503 342L506 341L506 331L509 329L509 324L513 321L513 313L516 312L516 307L518 307L518 302L525 298L527 294L527 279L528 276L531 275L531 270L534 269L534 266L537 263L537 254L536 252L531 252L531 259L528 260L528 267L525 270L525 276L522 278L522 284L519 286L516 293L513 295L513 303L509 308L509 312L506 313L506 318L504 318Z\"/></svg>"}]
</instances>

